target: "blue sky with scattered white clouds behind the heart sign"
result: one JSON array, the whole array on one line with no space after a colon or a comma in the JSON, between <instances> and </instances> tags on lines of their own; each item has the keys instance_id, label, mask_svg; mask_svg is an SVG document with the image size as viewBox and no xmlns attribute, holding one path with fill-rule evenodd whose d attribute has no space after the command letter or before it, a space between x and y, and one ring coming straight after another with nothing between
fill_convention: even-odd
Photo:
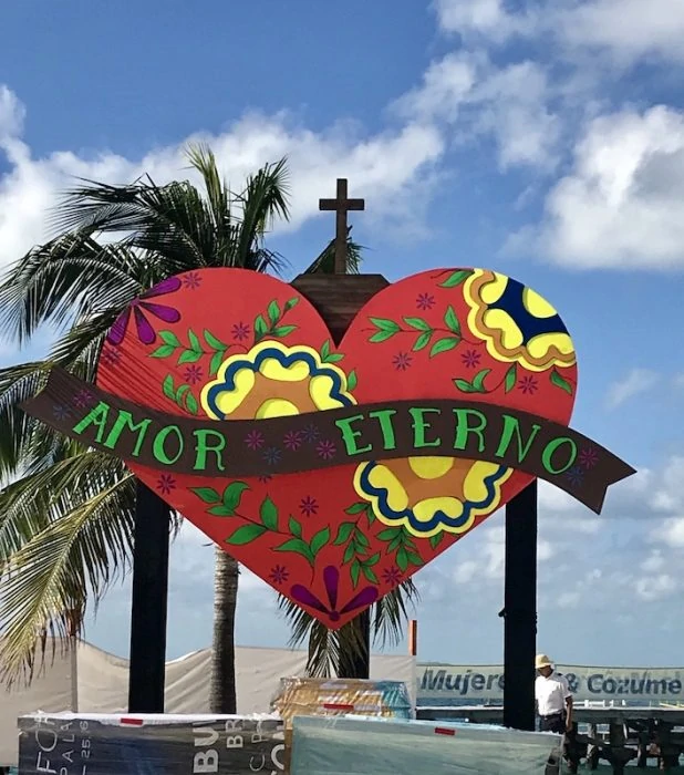
<instances>
[{"instance_id":1,"label":"blue sky with scattered white clouds behind the heart sign","mask_svg":"<svg viewBox=\"0 0 684 775\"><path fill-rule=\"evenodd\" d=\"M484 266L560 310L573 426L639 474L600 517L541 489L539 647L564 663L681 662L684 620L684 6L672 0L84 0L0 9L0 266L49 236L72 176L165 182L188 141L228 179L290 159L292 275L332 236L338 176L366 270ZM0 342L0 362L27 351ZM213 550L173 549L169 655L208 644ZM416 577L424 659L502 655L502 515ZM238 640L282 644L242 576ZM128 649L128 588L89 637ZM636 633L645 632L641 640ZM403 648L403 647L400 647Z\"/></svg>"}]
</instances>

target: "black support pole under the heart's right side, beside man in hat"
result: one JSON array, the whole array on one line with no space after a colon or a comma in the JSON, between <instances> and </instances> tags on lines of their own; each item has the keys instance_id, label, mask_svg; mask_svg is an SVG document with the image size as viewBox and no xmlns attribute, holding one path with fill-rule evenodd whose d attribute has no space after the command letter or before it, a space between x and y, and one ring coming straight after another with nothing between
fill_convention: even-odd
<instances>
[{"instance_id":1,"label":"black support pole under the heart's right side, beside man in hat","mask_svg":"<svg viewBox=\"0 0 684 775\"><path fill-rule=\"evenodd\" d=\"M535 728L537 480L506 506L504 725Z\"/></svg>"}]
</instances>

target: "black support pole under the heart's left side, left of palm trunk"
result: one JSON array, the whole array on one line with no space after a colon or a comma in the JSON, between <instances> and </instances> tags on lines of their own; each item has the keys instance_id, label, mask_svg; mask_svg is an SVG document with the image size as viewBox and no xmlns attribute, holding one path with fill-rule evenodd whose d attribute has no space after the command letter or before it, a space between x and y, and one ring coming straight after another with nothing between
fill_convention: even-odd
<instances>
[{"instance_id":1,"label":"black support pole under the heart's left side, left of palm trunk","mask_svg":"<svg viewBox=\"0 0 684 775\"><path fill-rule=\"evenodd\" d=\"M164 713L170 512L137 483L128 712Z\"/></svg>"}]
</instances>

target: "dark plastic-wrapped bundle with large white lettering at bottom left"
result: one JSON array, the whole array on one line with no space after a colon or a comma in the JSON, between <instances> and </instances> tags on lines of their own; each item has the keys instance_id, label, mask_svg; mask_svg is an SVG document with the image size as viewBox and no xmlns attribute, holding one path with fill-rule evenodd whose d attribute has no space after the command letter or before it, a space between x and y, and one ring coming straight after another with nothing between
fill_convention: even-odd
<instances>
[{"instance_id":1,"label":"dark plastic-wrapped bundle with large white lettering at bottom left","mask_svg":"<svg viewBox=\"0 0 684 775\"><path fill-rule=\"evenodd\" d=\"M19 775L280 775L274 716L32 714L19 719Z\"/></svg>"}]
</instances>

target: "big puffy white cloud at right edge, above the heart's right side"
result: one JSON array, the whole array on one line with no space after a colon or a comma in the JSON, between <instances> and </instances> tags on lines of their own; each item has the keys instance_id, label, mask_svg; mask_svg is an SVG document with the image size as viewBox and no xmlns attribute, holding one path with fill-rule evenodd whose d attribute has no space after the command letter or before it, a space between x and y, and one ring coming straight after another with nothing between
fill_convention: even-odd
<instances>
[{"instance_id":1,"label":"big puffy white cloud at right edge, above the heart's right side","mask_svg":"<svg viewBox=\"0 0 684 775\"><path fill-rule=\"evenodd\" d=\"M508 245L521 248L574 269L683 267L684 113L661 105L591 121L542 225Z\"/></svg>"}]
</instances>

